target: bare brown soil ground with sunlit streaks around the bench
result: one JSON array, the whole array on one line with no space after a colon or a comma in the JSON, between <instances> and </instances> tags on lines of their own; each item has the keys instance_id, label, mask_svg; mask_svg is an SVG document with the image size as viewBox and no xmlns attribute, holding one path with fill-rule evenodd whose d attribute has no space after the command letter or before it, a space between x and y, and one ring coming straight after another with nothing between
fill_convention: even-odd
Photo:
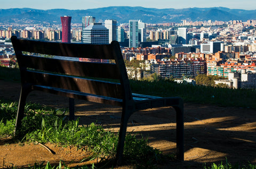
<instances>
[{"instance_id":1,"label":"bare brown soil ground with sunlit streaks around the bench","mask_svg":"<svg viewBox=\"0 0 256 169\"><path fill-rule=\"evenodd\" d=\"M19 83L0 80L0 98L18 101L19 91ZM42 92L31 92L28 101L53 107L68 107L68 98ZM81 124L97 121L106 129L118 131L121 108L83 100L75 100L75 103L76 117L80 117ZM226 158L232 164L256 163L254 109L194 103L185 103L184 106L185 161L166 162L157 165L158 168L202 168L204 163L225 162ZM163 154L175 152L175 111L172 107L147 109L133 114L127 131L139 132L143 137L148 137L150 146L160 149ZM60 160L66 164L72 163L71 166L92 163L80 163L89 154L75 147L64 148L51 143L45 146L55 154L36 143L19 144L1 139L0 168L46 162L57 165Z\"/></svg>"}]
</instances>

